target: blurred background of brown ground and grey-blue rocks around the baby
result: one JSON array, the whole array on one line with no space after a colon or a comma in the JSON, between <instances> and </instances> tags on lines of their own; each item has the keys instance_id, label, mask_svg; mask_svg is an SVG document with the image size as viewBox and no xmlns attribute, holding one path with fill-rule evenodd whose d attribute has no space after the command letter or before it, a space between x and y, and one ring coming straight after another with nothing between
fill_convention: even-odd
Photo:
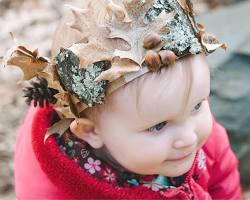
<instances>
[{"instance_id":1,"label":"blurred background of brown ground and grey-blue rocks around the baby","mask_svg":"<svg viewBox=\"0 0 250 200\"><path fill-rule=\"evenodd\" d=\"M64 3L79 0L0 0L0 57L13 41L39 48L50 56L52 35L63 16ZM250 1L193 0L198 22L229 46L227 53L208 56L212 69L211 108L228 130L233 150L240 160L241 181L250 199ZM0 69L0 199L15 199L13 153L15 133L26 105L22 98L21 72ZM219 141L218 141L219 144ZM28 159L28 158L23 158Z\"/></svg>"}]
</instances>

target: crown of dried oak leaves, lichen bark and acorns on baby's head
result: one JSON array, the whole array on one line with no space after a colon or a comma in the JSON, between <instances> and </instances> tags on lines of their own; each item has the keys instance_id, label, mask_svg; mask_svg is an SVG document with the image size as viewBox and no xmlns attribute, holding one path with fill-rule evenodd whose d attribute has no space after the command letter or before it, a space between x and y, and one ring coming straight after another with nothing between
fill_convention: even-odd
<instances>
[{"instance_id":1,"label":"crown of dried oak leaves, lichen bark and acorns on baby's head","mask_svg":"<svg viewBox=\"0 0 250 200\"><path fill-rule=\"evenodd\" d=\"M67 7L74 17L67 25L80 41L51 60L18 44L4 58L25 80L38 76L58 91L54 108L61 119L80 117L122 85L185 55L226 49L196 23L190 0L89 0L83 9Z\"/></svg>"}]
</instances>

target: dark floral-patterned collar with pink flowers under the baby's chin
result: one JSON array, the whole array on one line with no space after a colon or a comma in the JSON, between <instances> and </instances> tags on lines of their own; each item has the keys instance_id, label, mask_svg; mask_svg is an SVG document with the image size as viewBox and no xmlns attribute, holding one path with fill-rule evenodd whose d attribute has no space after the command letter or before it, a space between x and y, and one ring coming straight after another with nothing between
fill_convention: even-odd
<instances>
[{"instance_id":1,"label":"dark floral-patterned collar with pink flowers under the baby's chin","mask_svg":"<svg viewBox=\"0 0 250 200\"><path fill-rule=\"evenodd\" d=\"M92 148L84 141L78 139L70 131L57 137L60 150L68 159L76 162L84 171L97 180L105 179L115 187L135 187L143 185L153 191L165 191L169 188L179 187L185 176L169 178L160 175L138 175L127 171L119 171L103 159L98 158Z\"/></svg>"}]
</instances>

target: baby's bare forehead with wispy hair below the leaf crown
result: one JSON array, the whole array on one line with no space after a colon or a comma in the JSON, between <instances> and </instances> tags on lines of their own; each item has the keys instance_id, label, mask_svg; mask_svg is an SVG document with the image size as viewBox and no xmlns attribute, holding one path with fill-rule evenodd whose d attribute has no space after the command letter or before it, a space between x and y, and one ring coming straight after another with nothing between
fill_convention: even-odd
<instances>
[{"instance_id":1,"label":"baby's bare forehead with wispy hair below the leaf crown","mask_svg":"<svg viewBox=\"0 0 250 200\"><path fill-rule=\"evenodd\" d=\"M203 56L190 56L175 66L148 73L114 94L114 110L131 119L165 118L209 93L209 70ZM162 119L164 120L164 119Z\"/></svg>"}]
</instances>

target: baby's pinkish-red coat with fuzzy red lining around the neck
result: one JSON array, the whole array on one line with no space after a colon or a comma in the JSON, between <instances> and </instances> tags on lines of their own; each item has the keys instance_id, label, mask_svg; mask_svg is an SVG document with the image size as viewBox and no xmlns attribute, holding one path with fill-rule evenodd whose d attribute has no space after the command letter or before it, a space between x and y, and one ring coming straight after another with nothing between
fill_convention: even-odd
<instances>
[{"instance_id":1,"label":"baby's pinkish-red coat with fuzzy red lining around the neck","mask_svg":"<svg viewBox=\"0 0 250 200\"><path fill-rule=\"evenodd\" d=\"M202 156L178 188L155 192L143 186L114 187L98 181L69 160L51 136L52 108L30 108L16 140L15 181L18 199L241 199L238 161L225 129L217 122Z\"/></svg>"}]
</instances>

